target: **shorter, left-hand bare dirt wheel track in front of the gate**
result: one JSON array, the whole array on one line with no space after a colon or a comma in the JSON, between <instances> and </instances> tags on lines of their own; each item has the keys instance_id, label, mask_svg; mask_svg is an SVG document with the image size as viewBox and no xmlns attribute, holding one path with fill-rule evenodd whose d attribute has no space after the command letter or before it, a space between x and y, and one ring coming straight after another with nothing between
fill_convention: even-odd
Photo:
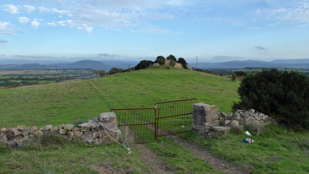
<instances>
[{"instance_id":1,"label":"shorter, left-hand bare dirt wheel track in front of the gate","mask_svg":"<svg viewBox=\"0 0 309 174\"><path fill-rule=\"evenodd\" d=\"M140 158L142 158L142 161L144 161L152 173L174 174L169 166L159 160L157 157L158 155L147 148L144 144L138 145L138 151L140 153Z\"/></svg>"}]
</instances>

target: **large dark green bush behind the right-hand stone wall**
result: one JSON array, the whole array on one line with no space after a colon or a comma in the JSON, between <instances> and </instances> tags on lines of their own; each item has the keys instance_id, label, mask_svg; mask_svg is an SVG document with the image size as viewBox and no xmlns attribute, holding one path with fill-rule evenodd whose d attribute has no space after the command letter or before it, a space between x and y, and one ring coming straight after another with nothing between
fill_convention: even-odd
<instances>
[{"instance_id":1,"label":"large dark green bush behind the right-hand stone wall","mask_svg":"<svg viewBox=\"0 0 309 174\"><path fill-rule=\"evenodd\" d=\"M309 78L297 72L263 70L244 77L233 109L255 109L294 130L309 128Z\"/></svg>"}]
</instances>

